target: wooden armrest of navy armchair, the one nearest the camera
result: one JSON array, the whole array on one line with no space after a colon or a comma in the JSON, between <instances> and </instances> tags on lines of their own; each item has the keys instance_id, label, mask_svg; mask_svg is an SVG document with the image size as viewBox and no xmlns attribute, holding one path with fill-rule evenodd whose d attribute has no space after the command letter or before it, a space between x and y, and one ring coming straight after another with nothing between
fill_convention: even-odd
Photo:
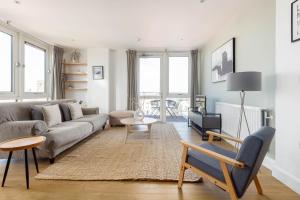
<instances>
[{"instance_id":1,"label":"wooden armrest of navy armchair, the one nearest the camera","mask_svg":"<svg viewBox=\"0 0 300 200\"><path fill-rule=\"evenodd\" d=\"M206 155L208 155L208 156L210 156L210 157L212 157L212 158L215 158L215 159L217 159L217 160L219 160L219 161L221 161L221 162L224 162L224 163L226 163L226 164L232 165L232 166L234 166L234 167L244 168L244 166L245 166L245 164L242 163L242 162L240 162L240 161L234 160L234 159L232 159L232 158L230 158L230 157L224 156L224 155L219 154L219 153L216 153L216 152L214 152L214 151L210 151L210 150L205 149L205 148L203 148L203 147L200 147L200 146L197 146L197 145L194 145L194 144L187 143L187 142L185 142L185 141L183 141L183 140L181 140L181 143L183 144L183 146L184 146L185 148L191 148L191 149L194 149L194 150L196 150L196 151L199 151L199 152L201 152L201 153L203 153L203 154L206 154Z\"/></svg>"}]
</instances>

